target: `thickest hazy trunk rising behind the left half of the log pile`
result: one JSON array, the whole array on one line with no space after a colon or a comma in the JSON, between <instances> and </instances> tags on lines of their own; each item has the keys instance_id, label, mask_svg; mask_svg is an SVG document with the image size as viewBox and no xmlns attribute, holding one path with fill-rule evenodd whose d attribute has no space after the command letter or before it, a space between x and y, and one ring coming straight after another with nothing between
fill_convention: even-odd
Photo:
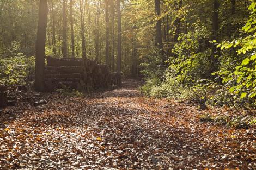
<instances>
[{"instance_id":1,"label":"thickest hazy trunk rising behind the left half of the log pile","mask_svg":"<svg viewBox=\"0 0 256 170\"><path fill-rule=\"evenodd\" d=\"M63 30L62 30L62 56L63 58L68 57L68 47L66 42L66 30L67 30L67 19L66 19L66 0L63 0L62 8L62 20L63 20Z\"/></svg>"}]
</instances>

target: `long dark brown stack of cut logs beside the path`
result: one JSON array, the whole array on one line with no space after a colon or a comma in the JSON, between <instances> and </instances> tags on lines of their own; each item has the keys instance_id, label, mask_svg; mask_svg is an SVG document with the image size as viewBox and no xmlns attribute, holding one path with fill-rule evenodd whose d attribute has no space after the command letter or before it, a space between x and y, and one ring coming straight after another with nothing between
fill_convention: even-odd
<instances>
[{"instance_id":1,"label":"long dark brown stack of cut logs beside the path","mask_svg":"<svg viewBox=\"0 0 256 170\"><path fill-rule=\"evenodd\" d=\"M93 91L121 85L121 75L111 74L106 65L88 59L63 59L48 56L45 90L79 89Z\"/></svg>"}]
</instances>

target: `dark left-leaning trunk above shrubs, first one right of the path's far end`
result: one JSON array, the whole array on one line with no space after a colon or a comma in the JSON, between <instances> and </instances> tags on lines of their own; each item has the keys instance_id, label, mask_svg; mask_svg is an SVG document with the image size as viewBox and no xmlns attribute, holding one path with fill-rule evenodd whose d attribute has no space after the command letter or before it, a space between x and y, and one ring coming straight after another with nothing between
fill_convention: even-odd
<instances>
[{"instance_id":1,"label":"dark left-leaning trunk above shrubs, first one right of the path's far end","mask_svg":"<svg viewBox=\"0 0 256 170\"><path fill-rule=\"evenodd\" d=\"M161 7L160 7L160 0L155 0L155 12L157 17L160 17L161 15ZM166 60L164 56L164 51L163 51L163 41L162 41L162 30L161 30L161 19L158 18L156 22L156 43L157 47L161 49L162 53L162 62Z\"/></svg>"}]
</instances>

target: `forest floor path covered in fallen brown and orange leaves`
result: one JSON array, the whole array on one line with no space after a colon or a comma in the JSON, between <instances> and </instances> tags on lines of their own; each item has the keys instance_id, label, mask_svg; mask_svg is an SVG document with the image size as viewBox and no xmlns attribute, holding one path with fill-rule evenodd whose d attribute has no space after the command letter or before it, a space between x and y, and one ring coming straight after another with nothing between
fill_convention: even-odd
<instances>
[{"instance_id":1,"label":"forest floor path covered in fallen brown and orange leaves","mask_svg":"<svg viewBox=\"0 0 256 170\"><path fill-rule=\"evenodd\" d=\"M202 122L206 112L229 110L146 98L142 83L5 109L0 169L256 169L255 128Z\"/></svg>"}]
</instances>

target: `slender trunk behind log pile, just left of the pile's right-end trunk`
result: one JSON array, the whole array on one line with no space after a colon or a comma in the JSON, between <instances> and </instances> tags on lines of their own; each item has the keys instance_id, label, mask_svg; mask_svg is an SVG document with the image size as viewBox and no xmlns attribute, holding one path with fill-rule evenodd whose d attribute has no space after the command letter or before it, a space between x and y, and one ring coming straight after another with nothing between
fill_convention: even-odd
<instances>
[{"instance_id":1,"label":"slender trunk behind log pile, just left of the pile's right-end trunk","mask_svg":"<svg viewBox=\"0 0 256 170\"><path fill-rule=\"evenodd\" d=\"M105 64L109 66L109 14L108 14L109 0L105 0L105 21L106 21L106 49L105 49Z\"/></svg>"}]
</instances>

